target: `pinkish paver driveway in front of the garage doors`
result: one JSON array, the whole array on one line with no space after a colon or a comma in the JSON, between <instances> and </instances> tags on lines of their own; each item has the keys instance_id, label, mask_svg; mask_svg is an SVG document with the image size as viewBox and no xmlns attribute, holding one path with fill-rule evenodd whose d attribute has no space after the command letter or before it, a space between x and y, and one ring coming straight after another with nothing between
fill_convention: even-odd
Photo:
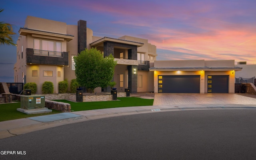
<instances>
[{"instance_id":1,"label":"pinkish paver driveway in front of the garage doors","mask_svg":"<svg viewBox=\"0 0 256 160\"><path fill-rule=\"evenodd\" d=\"M156 93L153 105L256 105L256 99L232 93Z\"/></svg>"}]
</instances>

